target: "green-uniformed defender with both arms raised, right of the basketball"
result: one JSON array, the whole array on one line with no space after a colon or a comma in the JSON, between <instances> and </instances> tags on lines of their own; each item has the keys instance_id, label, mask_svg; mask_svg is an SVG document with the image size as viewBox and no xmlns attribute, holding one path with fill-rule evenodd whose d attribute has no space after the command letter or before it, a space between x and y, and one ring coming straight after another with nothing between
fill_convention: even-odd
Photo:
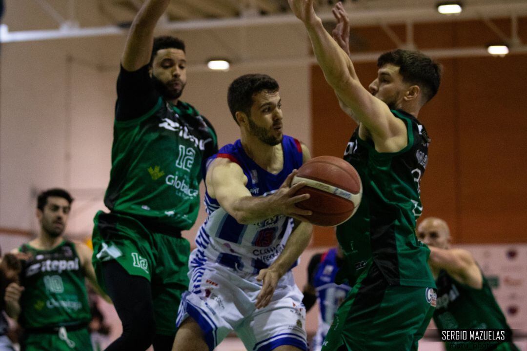
<instances>
[{"instance_id":1,"label":"green-uniformed defender with both arms raised, right of the basketball","mask_svg":"<svg viewBox=\"0 0 527 351\"><path fill-rule=\"evenodd\" d=\"M364 188L357 213L337 228L347 265L341 272L353 288L323 350L414 350L435 304L430 250L415 236L422 210L419 180L430 143L416 117L437 92L440 67L422 53L396 50L379 57L377 77L364 88L313 3L289 0L307 28L326 81L359 125L344 158L357 169ZM337 32L349 28L341 4L334 14Z\"/></svg>"}]
</instances>

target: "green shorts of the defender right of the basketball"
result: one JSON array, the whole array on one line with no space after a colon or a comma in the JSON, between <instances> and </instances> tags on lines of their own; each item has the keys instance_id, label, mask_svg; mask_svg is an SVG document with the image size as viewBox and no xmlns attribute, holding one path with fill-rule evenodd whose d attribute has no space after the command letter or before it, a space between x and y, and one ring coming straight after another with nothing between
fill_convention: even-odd
<instances>
[{"instance_id":1,"label":"green shorts of the defender right of the basketball","mask_svg":"<svg viewBox=\"0 0 527 351\"><path fill-rule=\"evenodd\" d=\"M417 350L434 295L431 288L389 285L373 263L340 305L322 350Z\"/></svg>"}]
</instances>

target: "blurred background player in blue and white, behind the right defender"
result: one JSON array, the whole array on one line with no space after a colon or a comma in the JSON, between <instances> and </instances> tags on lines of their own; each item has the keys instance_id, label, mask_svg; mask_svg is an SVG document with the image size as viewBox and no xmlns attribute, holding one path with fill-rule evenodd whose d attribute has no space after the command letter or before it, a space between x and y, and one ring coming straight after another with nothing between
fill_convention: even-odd
<instances>
[{"instance_id":1,"label":"blurred background player in blue and white, behind the right defender","mask_svg":"<svg viewBox=\"0 0 527 351\"><path fill-rule=\"evenodd\" d=\"M338 306L344 301L351 287L337 284L335 279L344 266L344 255L340 246L331 248L323 254L316 254L309 260L307 268L308 283L304 286L302 303L306 312L318 301L318 328L310 349L320 351Z\"/></svg>"}]
</instances>

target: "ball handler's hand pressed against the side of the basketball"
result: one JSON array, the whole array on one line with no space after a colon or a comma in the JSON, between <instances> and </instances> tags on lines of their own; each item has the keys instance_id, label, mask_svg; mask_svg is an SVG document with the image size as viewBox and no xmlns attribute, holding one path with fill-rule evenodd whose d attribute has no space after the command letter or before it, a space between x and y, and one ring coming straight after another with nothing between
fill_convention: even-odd
<instances>
[{"instance_id":1,"label":"ball handler's hand pressed against the side of the basketball","mask_svg":"<svg viewBox=\"0 0 527 351\"><path fill-rule=\"evenodd\" d=\"M310 195L295 195L299 189L306 186L306 183L299 182L291 186L291 182L297 173L298 171L296 169L292 171L291 174L287 176L286 180L284 180L284 183L282 183L282 185L278 188L276 193L272 195L275 197L274 206L276 206L278 213L282 215L289 216L302 221L307 221L305 216L310 216L312 212L308 209L302 209L300 207L297 207L296 204L301 201L307 200Z\"/></svg>"}]
</instances>

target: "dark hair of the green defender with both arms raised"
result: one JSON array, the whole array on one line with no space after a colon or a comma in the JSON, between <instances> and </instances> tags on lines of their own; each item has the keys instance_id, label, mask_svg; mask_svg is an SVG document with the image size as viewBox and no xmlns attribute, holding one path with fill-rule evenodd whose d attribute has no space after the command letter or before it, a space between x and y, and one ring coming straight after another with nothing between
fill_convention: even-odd
<instances>
[{"instance_id":1,"label":"dark hair of the green defender with both arms raised","mask_svg":"<svg viewBox=\"0 0 527 351\"><path fill-rule=\"evenodd\" d=\"M418 51L397 49L377 59L379 68L390 63L399 67L403 81L421 88L425 103L435 96L441 83L441 66L432 58Z\"/></svg>"}]
</instances>

